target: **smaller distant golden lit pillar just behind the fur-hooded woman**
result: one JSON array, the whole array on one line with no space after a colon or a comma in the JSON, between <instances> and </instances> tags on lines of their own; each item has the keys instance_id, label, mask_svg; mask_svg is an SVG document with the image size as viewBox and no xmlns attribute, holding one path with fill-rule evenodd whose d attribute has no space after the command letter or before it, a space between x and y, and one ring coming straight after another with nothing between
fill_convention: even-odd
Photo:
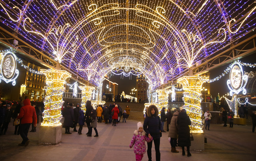
<instances>
[{"instance_id":1,"label":"smaller distant golden lit pillar just behind the fur-hooded woman","mask_svg":"<svg viewBox=\"0 0 256 161\"><path fill-rule=\"evenodd\" d=\"M168 97L171 91L166 89L157 89L156 92L158 93L158 111L160 114L163 107L165 107L165 111L168 109Z\"/></svg>"}]
</instances>

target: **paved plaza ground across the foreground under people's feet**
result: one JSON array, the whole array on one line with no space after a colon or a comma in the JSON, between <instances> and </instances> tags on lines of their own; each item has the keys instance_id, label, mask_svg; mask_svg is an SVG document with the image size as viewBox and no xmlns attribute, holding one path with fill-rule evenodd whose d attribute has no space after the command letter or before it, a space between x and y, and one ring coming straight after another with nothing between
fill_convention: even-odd
<instances>
[{"instance_id":1,"label":"paved plaza ground across the foreground under people's feet","mask_svg":"<svg viewBox=\"0 0 256 161\"><path fill-rule=\"evenodd\" d=\"M72 134L64 134L58 145L38 145L39 126L36 132L29 132L30 143L27 147L18 146L21 137L14 135L14 126L9 125L6 135L0 136L0 160L85 160L85 161L132 161L135 160L133 148L129 143L135 129L135 120L127 123L112 124L98 123L99 137L87 137L87 127L82 135L71 130ZM39 124L38 124L39 125ZM31 127L30 127L31 129ZM95 135L95 131L92 132ZM160 143L161 160L255 160L256 133L252 133L252 125L234 125L233 128L223 127L221 124L211 124L210 131L206 131L207 143L205 151L192 152L191 157L172 153L168 142L168 132L163 133ZM154 144L152 149L154 149ZM144 154L143 161L148 160ZM152 150L152 160L155 151Z\"/></svg>"}]
</instances>

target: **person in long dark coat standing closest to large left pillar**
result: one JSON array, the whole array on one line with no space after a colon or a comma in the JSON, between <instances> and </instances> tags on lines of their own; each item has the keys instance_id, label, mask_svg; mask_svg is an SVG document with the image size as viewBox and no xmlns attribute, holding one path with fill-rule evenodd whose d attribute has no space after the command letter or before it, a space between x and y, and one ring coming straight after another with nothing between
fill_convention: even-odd
<instances>
[{"instance_id":1,"label":"person in long dark coat standing closest to large left pillar","mask_svg":"<svg viewBox=\"0 0 256 161\"><path fill-rule=\"evenodd\" d=\"M68 105L66 107L64 110L64 118L65 134L72 134L70 132L70 127L73 127L73 121L75 120L73 106Z\"/></svg>"}]
</instances>

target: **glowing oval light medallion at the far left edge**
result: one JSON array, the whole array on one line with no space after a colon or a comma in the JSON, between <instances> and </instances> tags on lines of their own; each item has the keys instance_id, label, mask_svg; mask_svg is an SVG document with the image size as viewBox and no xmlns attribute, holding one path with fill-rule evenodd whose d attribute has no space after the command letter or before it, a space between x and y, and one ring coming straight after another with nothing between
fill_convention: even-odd
<instances>
[{"instance_id":1,"label":"glowing oval light medallion at the far left edge","mask_svg":"<svg viewBox=\"0 0 256 161\"><path fill-rule=\"evenodd\" d=\"M16 60L12 53L9 52L4 56L1 70L2 76L6 80L11 80L14 77L16 71Z\"/></svg>"}]
</instances>

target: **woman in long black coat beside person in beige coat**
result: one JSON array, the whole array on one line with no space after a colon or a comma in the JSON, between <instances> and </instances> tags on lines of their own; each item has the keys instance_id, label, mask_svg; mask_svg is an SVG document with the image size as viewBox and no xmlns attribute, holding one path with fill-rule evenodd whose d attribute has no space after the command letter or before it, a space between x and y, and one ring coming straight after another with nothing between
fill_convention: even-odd
<instances>
[{"instance_id":1,"label":"woman in long black coat beside person in beige coat","mask_svg":"<svg viewBox=\"0 0 256 161\"><path fill-rule=\"evenodd\" d=\"M177 119L178 124L178 146L181 146L182 148L182 155L185 155L184 147L187 147L187 156L190 157L190 151L189 146L191 146L190 142L190 129L189 125L191 125L191 121L189 119L189 116L186 113L185 109L182 109L181 112L178 115Z\"/></svg>"}]
</instances>

